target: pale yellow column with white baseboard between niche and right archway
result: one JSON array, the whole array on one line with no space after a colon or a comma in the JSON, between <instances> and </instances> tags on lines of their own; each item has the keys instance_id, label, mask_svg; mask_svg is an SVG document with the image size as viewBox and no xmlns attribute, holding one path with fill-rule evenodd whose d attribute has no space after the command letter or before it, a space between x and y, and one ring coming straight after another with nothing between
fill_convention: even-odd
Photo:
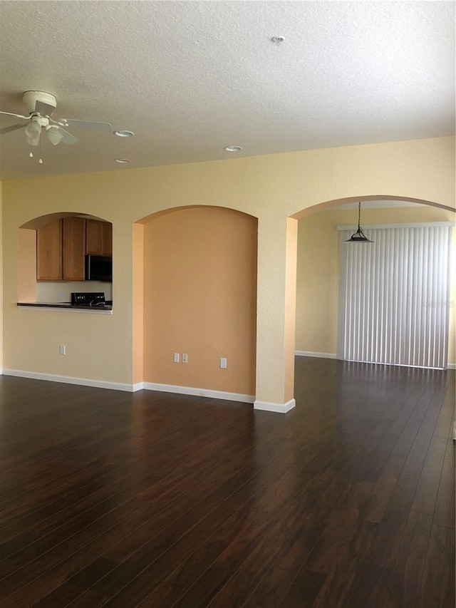
<instances>
[{"instance_id":1,"label":"pale yellow column with white baseboard between niche and right archway","mask_svg":"<svg viewBox=\"0 0 456 608\"><path fill-rule=\"evenodd\" d=\"M259 220L256 409L286 413L295 406L297 234L297 220Z\"/></svg>"}]
</instances>

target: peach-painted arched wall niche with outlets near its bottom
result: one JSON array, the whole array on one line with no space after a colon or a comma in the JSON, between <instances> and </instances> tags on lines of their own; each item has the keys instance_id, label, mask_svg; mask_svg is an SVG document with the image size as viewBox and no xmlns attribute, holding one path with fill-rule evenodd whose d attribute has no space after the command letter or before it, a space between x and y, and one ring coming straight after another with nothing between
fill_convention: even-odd
<instances>
[{"instance_id":1,"label":"peach-painted arched wall niche with outlets near its bottom","mask_svg":"<svg viewBox=\"0 0 456 608\"><path fill-rule=\"evenodd\" d=\"M133 250L134 383L252 402L257 218L159 212L135 223Z\"/></svg>"}]
</instances>

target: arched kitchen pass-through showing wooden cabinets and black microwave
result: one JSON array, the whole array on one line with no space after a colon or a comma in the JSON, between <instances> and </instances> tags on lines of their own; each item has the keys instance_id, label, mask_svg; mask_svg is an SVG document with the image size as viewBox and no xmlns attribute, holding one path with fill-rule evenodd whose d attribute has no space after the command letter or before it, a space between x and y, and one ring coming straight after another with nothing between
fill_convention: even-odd
<instances>
[{"instance_id":1,"label":"arched kitchen pass-through showing wooden cabinets and black microwave","mask_svg":"<svg viewBox=\"0 0 456 608\"><path fill-rule=\"evenodd\" d=\"M34 217L18 230L18 302L71 304L71 294L113 300L113 227L74 212Z\"/></svg>"}]
</instances>

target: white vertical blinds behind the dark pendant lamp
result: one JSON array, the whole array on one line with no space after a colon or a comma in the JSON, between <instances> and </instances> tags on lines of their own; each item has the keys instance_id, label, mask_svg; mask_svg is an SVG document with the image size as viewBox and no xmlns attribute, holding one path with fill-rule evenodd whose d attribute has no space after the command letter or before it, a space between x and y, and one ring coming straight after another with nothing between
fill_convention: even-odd
<instances>
[{"instance_id":1,"label":"white vertical blinds behind the dark pendant lamp","mask_svg":"<svg viewBox=\"0 0 456 608\"><path fill-rule=\"evenodd\" d=\"M341 231L338 357L446 368L451 227Z\"/></svg>"}]
</instances>

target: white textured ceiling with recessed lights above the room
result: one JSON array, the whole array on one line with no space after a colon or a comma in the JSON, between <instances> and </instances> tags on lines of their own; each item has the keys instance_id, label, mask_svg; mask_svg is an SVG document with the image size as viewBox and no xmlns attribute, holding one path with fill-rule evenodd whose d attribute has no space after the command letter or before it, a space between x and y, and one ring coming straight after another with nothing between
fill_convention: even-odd
<instances>
[{"instance_id":1,"label":"white textured ceiling with recessed lights above the room","mask_svg":"<svg viewBox=\"0 0 456 608\"><path fill-rule=\"evenodd\" d=\"M135 132L45 138L43 165L7 133L1 179L454 133L453 2L0 1L0 24L1 110L38 89Z\"/></svg>"}]
</instances>

